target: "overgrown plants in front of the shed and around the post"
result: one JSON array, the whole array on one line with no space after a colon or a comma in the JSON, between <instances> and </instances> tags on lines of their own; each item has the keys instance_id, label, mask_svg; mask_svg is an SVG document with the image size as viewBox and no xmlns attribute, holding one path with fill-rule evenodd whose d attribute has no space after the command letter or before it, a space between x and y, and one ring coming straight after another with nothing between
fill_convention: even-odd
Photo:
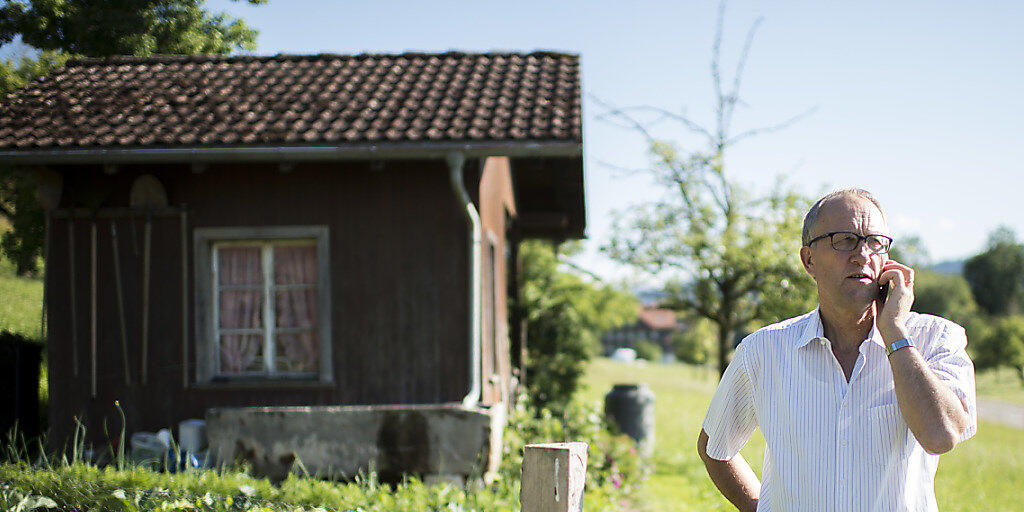
<instances>
[{"instance_id":1,"label":"overgrown plants in front of the shed and around the post","mask_svg":"<svg viewBox=\"0 0 1024 512\"><path fill-rule=\"evenodd\" d=\"M505 431L500 478L468 489L427 485L409 477L390 486L374 474L353 482L324 481L293 473L280 486L245 468L157 472L134 466L112 447L114 462L98 467L82 458L76 442L66 458L30 462L27 450L9 450L0 464L0 509L297 511L359 510L507 512L518 508L522 449L530 442L582 440L590 444L586 510L621 510L644 476L633 442L612 433L596 406L572 400L561 416L525 406L513 410ZM123 442L123 438L121 439ZM118 444L121 445L121 444ZM16 446L16 445L15 445ZM113 446L113 445L112 445Z\"/></svg>"}]
</instances>

